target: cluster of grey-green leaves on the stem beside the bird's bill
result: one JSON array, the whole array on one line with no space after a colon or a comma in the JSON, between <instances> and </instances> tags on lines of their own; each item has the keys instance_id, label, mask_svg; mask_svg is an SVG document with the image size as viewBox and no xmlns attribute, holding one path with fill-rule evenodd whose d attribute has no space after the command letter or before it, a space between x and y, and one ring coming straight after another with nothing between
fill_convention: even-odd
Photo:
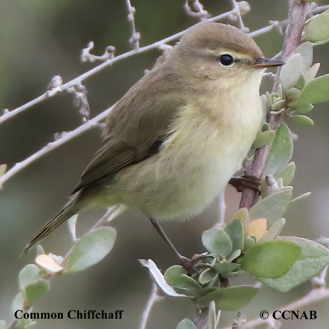
<instances>
[{"instance_id":1,"label":"cluster of grey-green leaves on the stem beside the bird's bill","mask_svg":"<svg viewBox=\"0 0 329 329\"><path fill-rule=\"evenodd\" d=\"M283 113L284 119L312 126L314 122L304 114L313 109L312 104L329 100L329 74L316 78L320 63L311 66L313 46L329 41L329 10L305 22L302 41L282 67L278 91L262 95L262 101L273 114ZM272 136L272 131L262 130L253 147L268 144Z\"/></svg>"}]
</instances>

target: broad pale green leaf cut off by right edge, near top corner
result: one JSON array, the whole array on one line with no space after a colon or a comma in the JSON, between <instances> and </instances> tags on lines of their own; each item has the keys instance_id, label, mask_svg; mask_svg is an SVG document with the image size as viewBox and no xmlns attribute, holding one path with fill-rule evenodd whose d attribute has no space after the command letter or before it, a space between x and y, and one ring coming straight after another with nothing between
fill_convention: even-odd
<instances>
[{"instance_id":1,"label":"broad pale green leaf cut off by right edge, near top corner","mask_svg":"<svg viewBox=\"0 0 329 329\"><path fill-rule=\"evenodd\" d=\"M329 14L321 13L307 20L304 31L303 40L316 42L317 44L325 43L324 41L329 39Z\"/></svg>"}]
</instances>

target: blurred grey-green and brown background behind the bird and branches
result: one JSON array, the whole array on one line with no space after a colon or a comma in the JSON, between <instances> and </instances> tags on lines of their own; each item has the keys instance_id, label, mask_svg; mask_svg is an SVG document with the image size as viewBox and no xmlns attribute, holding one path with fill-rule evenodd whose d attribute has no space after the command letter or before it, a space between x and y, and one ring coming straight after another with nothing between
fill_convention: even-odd
<instances>
[{"instance_id":1,"label":"blurred grey-green and brown background behind the bird and branches","mask_svg":"<svg viewBox=\"0 0 329 329\"><path fill-rule=\"evenodd\" d=\"M229 1L203 0L213 16L230 10ZM244 16L250 31L267 25L269 20L287 17L288 1L250 0L251 12ZM318 2L327 4L326 1ZM196 23L183 9L182 0L132 0L136 8L136 29L141 33L141 46L158 41ZM0 0L0 109L13 110L42 94L50 79L59 74L63 82L84 73L95 64L81 63L82 48L90 40L93 54L101 55L108 45L115 54L130 49L130 26L126 19L124 0ZM283 37L277 30L255 38L266 57L280 51ZM329 45L314 49L314 62L321 62L319 73L329 72ZM85 82L92 116L111 106L155 62L158 51L136 55L115 63ZM262 92L270 90L272 81L264 79ZM0 125L0 164L10 168L53 141L53 134L70 131L81 124L73 107L72 95L54 98L17 115ZM329 236L329 113L328 103L319 104L310 113L315 126L290 125L298 135L293 161L296 176L292 182L293 196L312 191L306 200L286 213L283 235L316 239ZM39 228L66 203L81 173L101 143L98 129L90 130L56 149L22 170L0 191L0 319L11 321L11 302L18 291L19 270L33 261L34 250L19 258L25 244ZM227 188L226 219L236 211L239 195ZM79 217L78 235L95 223L102 212ZM214 202L204 213L185 223L165 223L163 228L176 248L186 257L204 251L203 230L218 217ZM36 328L138 328L141 314L151 290L151 279L138 263L138 258L151 258L165 270L177 263L172 252L158 237L147 218L127 212L112 224L117 241L112 252L98 265L75 275L59 277L51 290L34 305L34 312L73 310L124 310L122 320L39 320ZM59 255L71 247L66 225L42 241L46 252ZM253 282L242 277L240 282ZM243 311L248 319L262 310L275 310L303 295L310 289L305 283L289 293L263 288ZM329 302L306 306L316 310L312 321L290 320L282 328L325 328L329 320ZM236 312L223 312L220 327L229 325ZM65 316L66 317L66 316ZM188 299L166 298L154 307L148 328L171 329L185 317L193 318L193 304Z\"/></svg>"}]
</instances>

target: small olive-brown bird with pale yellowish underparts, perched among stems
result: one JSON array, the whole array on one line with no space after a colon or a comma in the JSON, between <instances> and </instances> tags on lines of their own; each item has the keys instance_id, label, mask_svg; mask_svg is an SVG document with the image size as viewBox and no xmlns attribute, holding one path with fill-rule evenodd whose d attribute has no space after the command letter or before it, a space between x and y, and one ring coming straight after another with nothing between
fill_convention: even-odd
<instances>
[{"instance_id":1,"label":"small olive-brown bird with pale yellowish underparts, perched among stems","mask_svg":"<svg viewBox=\"0 0 329 329\"><path fill-rule=\"evenodd\" d=\"M23 253L82 209L123 203L157 220L201 212L259 131L262 72L282 64L233 26L191 27L115 105L70 201Z\"/></svg>"}]
</instances>

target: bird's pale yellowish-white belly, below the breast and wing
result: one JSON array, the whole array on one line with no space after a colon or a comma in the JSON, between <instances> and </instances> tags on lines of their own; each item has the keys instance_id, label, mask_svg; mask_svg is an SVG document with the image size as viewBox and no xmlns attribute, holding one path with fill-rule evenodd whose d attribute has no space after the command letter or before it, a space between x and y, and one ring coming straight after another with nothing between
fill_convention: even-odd
<instances>
[{"instance_id":1,"label":"bird's pale yellowish-white belly, below the breast and wing","mask_svg":"<svg viewBox=\"0 0 329 329\"><path fill-rule=\"evenodd\" d=\"M252 131L226 128L201 124L173 134L158 154L121 170L111 191L156 219L201 212L241 167L258 124Z\"/></svg>"}]
</instances>

